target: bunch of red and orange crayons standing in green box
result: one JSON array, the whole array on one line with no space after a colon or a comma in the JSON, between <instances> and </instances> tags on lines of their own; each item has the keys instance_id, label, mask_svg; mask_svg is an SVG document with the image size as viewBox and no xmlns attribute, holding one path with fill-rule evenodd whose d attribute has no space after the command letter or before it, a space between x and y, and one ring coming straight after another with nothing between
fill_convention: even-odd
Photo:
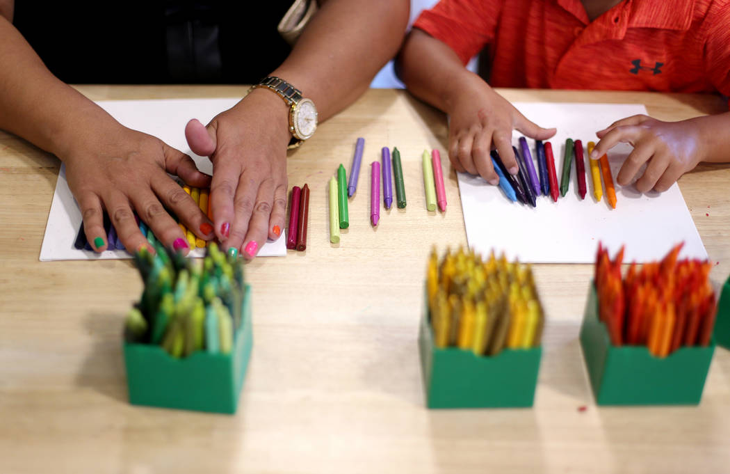
<instances>
[{"instance_id":1,"label":"bunch of red and orange crayons standing in green box","mask_svg":"<svg viewBox=\"0 0 730 474\"><path fill-rule=\"evenodd\" d=\"M599 318L612 345L646 345L664 357L684 345L708 345L717 304L710 284L709 261L677 261L682 244L664 259L639 269L632 263L621 279L623 248L613 261L599 244L596 291Z\"/></svg>"}]
</instances>

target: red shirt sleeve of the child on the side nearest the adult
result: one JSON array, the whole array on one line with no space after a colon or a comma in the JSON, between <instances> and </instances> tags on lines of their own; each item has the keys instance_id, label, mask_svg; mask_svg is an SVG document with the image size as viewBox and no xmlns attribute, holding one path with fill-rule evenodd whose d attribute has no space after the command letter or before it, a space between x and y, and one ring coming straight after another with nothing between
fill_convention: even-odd
<instances>
[{"instance_id":1,"label":"red shirt sleeve of the child on the side nearest the adult","mask_svg":"<svg viewBox=\"0 0 730 474\"><path fill-rule=\"evenodd\" d=\"M413 27L445 42L466 65L494 38L502 3L499 0L441 0L433 8L423 10Z\"/></svg>"}]
</instances>

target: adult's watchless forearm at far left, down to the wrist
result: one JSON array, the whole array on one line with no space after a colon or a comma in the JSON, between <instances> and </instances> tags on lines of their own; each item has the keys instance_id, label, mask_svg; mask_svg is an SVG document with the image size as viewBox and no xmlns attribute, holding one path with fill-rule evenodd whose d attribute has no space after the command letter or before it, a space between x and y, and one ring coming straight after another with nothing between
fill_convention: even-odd
<instances>
[{"instance_id":1,"label":"adult's watchless forearm at far left, down to the wrist","mask_svg":"<svg viewBox=\"0 0 730 474\"><path fill-rule=\"evenodd\" d=\"M28 42L0 17L0 129L63 158L74 142L118 123L48 71Z\"/></svg>"}]
</instances>

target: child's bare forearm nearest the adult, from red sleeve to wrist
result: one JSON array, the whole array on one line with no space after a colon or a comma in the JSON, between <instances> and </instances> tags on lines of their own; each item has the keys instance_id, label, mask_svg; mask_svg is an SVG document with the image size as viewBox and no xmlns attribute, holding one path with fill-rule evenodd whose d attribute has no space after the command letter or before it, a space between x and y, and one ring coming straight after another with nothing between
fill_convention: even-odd
<instances>
[{"instance_id":1,"label":"child's bare forearm nearest the adult, from red sleeve to wrist","mask_svg":"<svg viewBox=\"0 0 730 474\"><path fill-rule=\"evenodd\" d=\"M414 29L396 61L396 71L408 90L439 110L450 113L458 93L483 81L461 64L445 43Z\"/></svg>"}]
</instances>

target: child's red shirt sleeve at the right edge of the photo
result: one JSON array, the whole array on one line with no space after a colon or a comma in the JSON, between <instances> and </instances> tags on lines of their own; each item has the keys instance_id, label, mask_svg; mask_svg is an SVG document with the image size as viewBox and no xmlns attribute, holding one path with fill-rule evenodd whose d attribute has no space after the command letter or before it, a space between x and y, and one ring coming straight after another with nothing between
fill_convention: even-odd
<instances>
[{"instance_id":1,"label":"child's red shirt sleeve at the right edge of the photo","mask_svg":"<svg viewBox=\"0 0 730 474\"><path fill-rule=\"evenodd\" d=\"M703 27L704 68L710 83L723 96L730 96L730 3L715 1L718 7L710 8ZM713 6L714 6L713 5Z\"/></svg>"}]
</instances>

